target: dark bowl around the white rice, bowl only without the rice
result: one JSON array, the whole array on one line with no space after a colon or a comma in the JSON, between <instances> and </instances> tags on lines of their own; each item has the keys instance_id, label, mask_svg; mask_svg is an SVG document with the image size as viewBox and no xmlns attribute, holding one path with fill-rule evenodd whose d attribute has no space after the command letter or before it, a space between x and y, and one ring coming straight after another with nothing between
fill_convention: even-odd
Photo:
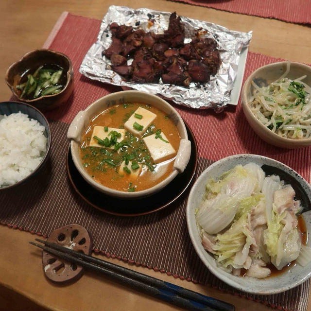
<instances>
[{"instance_id":1,"label":"dark bowl around the white rice, bowl only without the rice","mask_svg":"<svg viewBox=\"0 0 311 311\"><path fill-rule=\"evenodd\" d=\"M18 185L21 185L25 182L28 182L31 178L33 178L42 169L42 167L44 166L44 163L47 161L47 159L49 157L49 153L51 150L52 137L51 137L49 122L47 121L45 116L35 107L33 107L29 104L18 103L18 102L0 103L0 120L2 119L2 117L4 115L9 116L13 113L18 113L19 111L23 114L28 115L28 117L30 119L34 119L34 120L38 121L41 125L43 125L45 127L45 131L43 134L47 138L47 147L46 147L46 151L45 151L45 153L41 159L41 162L39 163L39 165L35 168L35 170L32 173L30 173L28 176L24 177L23 179L19 180L15 184L8 185L8 186L2 186L2 187L0 186L0 190L11 189L11 188L16 187ZM0 172L0 173L3 173L3 172Z\"/></svg>"}]
</instances>

